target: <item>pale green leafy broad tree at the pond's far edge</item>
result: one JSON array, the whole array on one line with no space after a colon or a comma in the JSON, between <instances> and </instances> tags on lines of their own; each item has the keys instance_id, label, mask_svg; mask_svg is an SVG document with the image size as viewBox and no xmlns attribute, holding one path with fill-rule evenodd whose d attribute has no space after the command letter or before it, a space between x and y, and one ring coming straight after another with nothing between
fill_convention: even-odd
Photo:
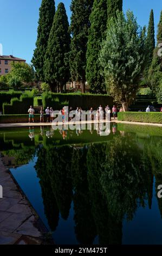
<instances>
[{"instance_id":1,"label":"pale green leafy broad tree at the pond's far edge","mask_svg":"<svg viewBox=\"0 0 162 256\"><path fill-rule=\"evenodd\" d=\"M116 13L109 21L100 62L104 68L107 92L122 103L124 111L138 92L140 74L145 64L145 28L138 26L131 11Z\"/></svg>"}]
</instances>

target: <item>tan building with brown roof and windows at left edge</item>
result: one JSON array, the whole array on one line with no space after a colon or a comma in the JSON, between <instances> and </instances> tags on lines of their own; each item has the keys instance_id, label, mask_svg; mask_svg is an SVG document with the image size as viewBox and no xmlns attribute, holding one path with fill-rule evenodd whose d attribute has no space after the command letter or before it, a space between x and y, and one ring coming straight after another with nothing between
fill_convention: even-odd
<instances>
[{"instance_id":1,"label":"tan building with brown roof and windows at left edge","mask_svg":"<svg viewBox=\"0 0 162 256\"><path fill-rule=\"evenodd\" d=\"M0 55L0 76L9 74L11 70L11 62L26 62L26 60L12 55Z\"/></svg>"}]
</instances>

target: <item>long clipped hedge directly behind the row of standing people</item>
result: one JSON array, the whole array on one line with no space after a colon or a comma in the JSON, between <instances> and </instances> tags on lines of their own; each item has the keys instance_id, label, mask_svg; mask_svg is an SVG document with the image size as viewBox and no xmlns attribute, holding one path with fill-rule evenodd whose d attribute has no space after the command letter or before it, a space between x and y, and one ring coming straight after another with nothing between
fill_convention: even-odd
<instances>
[{"instance_id":1,"label":"long clipped hedge directly behind the row of standing people","mask_svg":"<svg viewBox=\"0 0 162 256\"><path fill-rule=\"evenodd\" d=\"M92 95L92 94L56 94L56 93L43 93L42 95L43 107L53 107L53 109L61 109L63 106L82 107L83 110L93 107L97 109L99 105L103 107L109 105L113 106L113 98L108 95Z\"/></svg>"}]
</instances>

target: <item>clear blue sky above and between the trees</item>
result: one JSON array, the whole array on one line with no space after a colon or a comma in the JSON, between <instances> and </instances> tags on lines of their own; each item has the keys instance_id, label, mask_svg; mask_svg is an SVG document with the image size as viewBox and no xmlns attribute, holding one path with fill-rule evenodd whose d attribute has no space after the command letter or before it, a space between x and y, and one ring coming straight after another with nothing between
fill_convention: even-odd
<instances>
[{"instance_id":1,"label":"clear blue sky above and between the trees","mask_svg":"<svg viewBox=\"0 0 162 256\"><path fill-rule=\"evenodd\" d=\"M66 6L70 21L71 0L55 0ZM151 9L154 10L155 31L160 19L162 3L159 0L124 0L124 11L131 9L141 26L148 25ZM0 0L0 43L3 54L14 54L30 63L37 38L37 22L41 0Z\"/></svg>"}]
</instances>

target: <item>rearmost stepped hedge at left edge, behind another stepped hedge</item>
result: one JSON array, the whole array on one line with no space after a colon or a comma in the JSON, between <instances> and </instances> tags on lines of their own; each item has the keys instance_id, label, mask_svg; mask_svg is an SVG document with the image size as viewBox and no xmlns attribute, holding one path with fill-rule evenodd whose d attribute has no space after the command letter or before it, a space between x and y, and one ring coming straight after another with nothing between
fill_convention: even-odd
<instances>
[{"instance_id":1,"label":"rearmost stepped hedge at left edge, behind another stepped hedge","mask_svg":"<svg viewBox=\"0 0 162 256\"><path fill-rule=\"evenodd\" d=\"M0 92L0 111L3 109L3 103L10 103L12 98L20 99L22 92L9 90L9 92Z\"/></svg>"}]
</instances>

